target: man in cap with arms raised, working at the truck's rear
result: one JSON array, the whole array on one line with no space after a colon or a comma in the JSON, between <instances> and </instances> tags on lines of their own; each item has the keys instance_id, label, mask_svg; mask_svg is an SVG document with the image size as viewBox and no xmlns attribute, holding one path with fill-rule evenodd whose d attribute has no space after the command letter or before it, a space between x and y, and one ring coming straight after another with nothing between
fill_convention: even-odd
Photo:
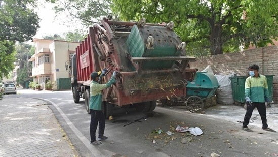
<instances>
[{"instance_id":1,"label":"man in cap with arms raised, working at the truck's rear","mask_svg":"<svg viewBox=\"0 0 278 157\"><path fill-rule=\"evenodd\" d=\"M104 76L107 70L103 69L101 75ZM90 136L91 136L91 144L98 145L101 144L101 140L105 140L108 137L104 136L105 129L105 117L101 111L102 104L102 90L110 87L112 84L116 83L116 74L117 71L113 72L113 75L109 82L106 84L99 84L100 75L97 72L93 72L91 74L92 82L90 83L90 106L91 109L91 122L90 122ZM99 126L98 126L99 124ZM96 130L98 127L98 139L96 139Z\"/></svg>"}]
</instances>

